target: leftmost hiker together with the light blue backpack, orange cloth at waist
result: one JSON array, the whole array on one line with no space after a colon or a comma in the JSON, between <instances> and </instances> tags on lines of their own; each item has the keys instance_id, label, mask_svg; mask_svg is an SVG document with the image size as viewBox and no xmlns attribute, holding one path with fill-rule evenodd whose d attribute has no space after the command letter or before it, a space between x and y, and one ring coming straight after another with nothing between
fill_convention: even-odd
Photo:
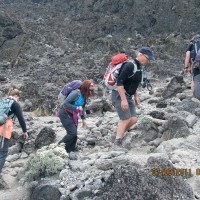
<instances>
[{"instance_id":1,"label":"leftmost hiker together with the light blue backpack, orange cloth at waist","mask_svg":"<svg viewBox=\"0 0 200 200\"><path fill-rule=\"evenodd\" d=\"M8 185L2 178L1 171L8 155L9 140L11 138L15 117L18 118L24 133L24 139L28 139L26 123L21 106L18 103L20 95L21 91L11 88L8 92L8 97L0 100L0 189L8 188Z\"/></svg>"}]
</instances>

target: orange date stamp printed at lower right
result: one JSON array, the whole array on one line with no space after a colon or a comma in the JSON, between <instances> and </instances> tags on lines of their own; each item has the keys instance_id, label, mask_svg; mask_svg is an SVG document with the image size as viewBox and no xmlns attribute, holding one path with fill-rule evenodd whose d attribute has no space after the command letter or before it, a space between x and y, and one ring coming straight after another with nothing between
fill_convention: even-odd
<instances>
[{"instance_id":1,"label":"orange date stamp printed at lower right","mask_svg":"<svg viewBox=\"0 0 200 200\"><path fill-rule=\"evenodd\" d=\"M151 169L152 176L200 176L199 168L159 168L153 167Z\"/></svg>"}]
</instances>

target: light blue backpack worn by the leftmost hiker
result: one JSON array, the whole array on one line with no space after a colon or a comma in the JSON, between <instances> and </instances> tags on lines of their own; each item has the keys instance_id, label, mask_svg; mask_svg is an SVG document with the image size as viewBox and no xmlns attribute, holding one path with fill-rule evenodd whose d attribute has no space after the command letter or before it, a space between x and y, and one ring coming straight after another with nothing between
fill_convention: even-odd
<instances>
[{"instance_id":1,"label":"light blue backpack worn by the leftmost hiker","mask_svg":"<svg viewBox=\"0 0 200 200\"><path fill-rule=\"evenodd\" d=\"M0 126L5 124L8 119L8 113L10 107L12 106L14 100L11 98L1 98L0 99Z\"/></svg>"}]
</instances>

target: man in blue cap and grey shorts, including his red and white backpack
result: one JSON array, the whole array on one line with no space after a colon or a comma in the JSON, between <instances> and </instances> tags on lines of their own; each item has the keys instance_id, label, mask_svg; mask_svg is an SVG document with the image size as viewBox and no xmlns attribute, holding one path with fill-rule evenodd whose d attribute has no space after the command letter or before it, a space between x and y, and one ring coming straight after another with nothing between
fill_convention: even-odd
<instances>
[{"instance_id":1,"label":"man in blue cap and grey shorts, including his red and white backpack","mask_svg":"<svg viewBox=\"0 0 200 200\"><path fill-rule=\"evenodd\" d=\"M149 47L142 47L137 57L132 60L124 56L124 61L119 63L119 56L123 57L122 54L113 57L111 66L104 75L104 83L112 90L112 104L120 118L115 139L115 145L120 147L126 131L137 122L135 106L140 104L137 88L143 79L142 66L149 64L150 60L155 60L155 57Z\"/></svg>"}]
</instances>

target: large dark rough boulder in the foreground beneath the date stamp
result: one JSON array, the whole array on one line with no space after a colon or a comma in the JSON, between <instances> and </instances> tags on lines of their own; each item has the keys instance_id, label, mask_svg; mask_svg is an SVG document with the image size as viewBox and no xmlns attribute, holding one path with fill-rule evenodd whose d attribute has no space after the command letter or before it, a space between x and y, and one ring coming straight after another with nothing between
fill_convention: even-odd
<instances>
[{"instance_id":1,"label":"large dark rough boulder in the foreground beneath the date stamp","mask_svg":"<svg viewBox=\"0 0 200 200\"><path fill-rule=\"evenodd\" d=\"M133 166L121 166L105 182L95 200L155 200L185 199L191 200L193 192L182 177L158 175L154 169L173 168L165 159L149 158L145 169ZM153 175L154 174L154 175Z\"/></svg>"}]
</instances>

